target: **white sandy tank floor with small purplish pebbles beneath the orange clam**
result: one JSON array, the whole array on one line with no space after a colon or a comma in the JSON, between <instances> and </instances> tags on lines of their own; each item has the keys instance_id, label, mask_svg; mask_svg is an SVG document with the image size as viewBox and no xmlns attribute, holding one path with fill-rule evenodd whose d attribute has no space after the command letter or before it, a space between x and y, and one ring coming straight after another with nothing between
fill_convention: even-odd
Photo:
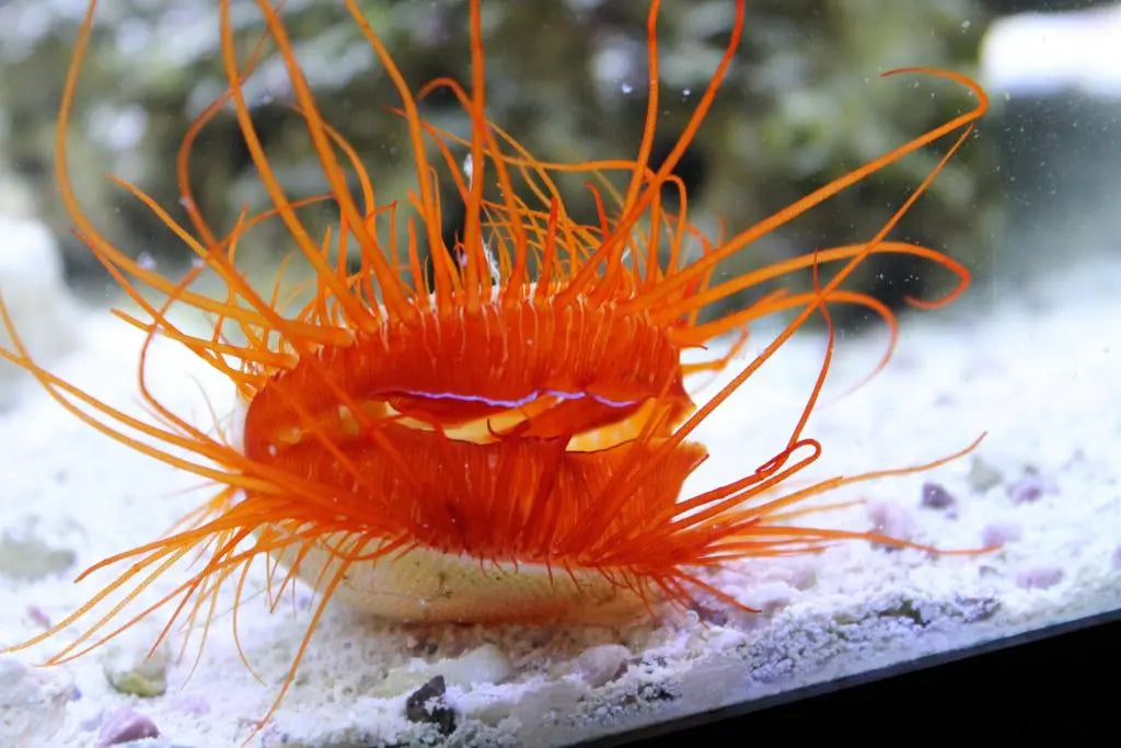
<instances>
[{"instance_id":1,"label":"white sandy tank floor with small purplish pebbles beneath the orange clam","mask_svg":"<svg viewBox=\"0 0 1121 748\"><path fill-rule=\"evenodd\" d=\"M1003 539L1000 551L932 557L855 542L738 562L713 579L763 612L707 600L700 611L624 628L401 626L331 606L252 745L566 744L1121 607L1119 273L1117 261L1087 262L1038 286L979 287L955 307L910 315L890 367L809 423L806 435L825 450L819 477L925 462L986 431L974 454L837 491L828 499L864 504L806 521L880 526L943 548ZM101 310L73 325L81 345L53 370L136 410L137 335ZM756 350L767 332L752 339ZM856 382L883 342L840 340L826 399ZM740 477L780 449L822 350L821 334L796 338L705 425L712 459L691 487ZM152 380L200 424L211 423L201 391L220 413L230 403L224 382L170 345L157 351ZM155 538L206 496L197 479L78 423L27 378L15 386L16 405L0 414L4 547L65 570L28 571L26 557L9 564L0 575L2 644L62 619L111 579L74 584L81 569ZM921 507L924 495L952 506ZM151 592L182 579L170 570ZM242 604L240 641L263 684L240 661L222 606L193 673L194 648L182 662L177 649L160 653L170 657L155 667L166 666L159 696L119 693L106 672L142 657L163 613L56 668L26 664L78 628L0 656L0 744L93 746L124 735L113 720L143 715L158 728L157 745L238 745L276 696L312 601L302 589L272 615L260 597ZM446 684L436 715L410 721L409 695L436 675Z\"/></svg>"}]
</instances>

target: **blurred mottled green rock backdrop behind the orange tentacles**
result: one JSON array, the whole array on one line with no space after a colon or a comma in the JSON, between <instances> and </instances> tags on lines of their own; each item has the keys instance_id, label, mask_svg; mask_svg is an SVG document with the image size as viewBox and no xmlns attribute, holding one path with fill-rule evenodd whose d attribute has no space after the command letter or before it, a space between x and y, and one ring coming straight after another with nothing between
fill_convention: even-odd
<instances>
[{"instance_id":1,"label":"blurred mottled green rock backdrop behind the orange tentacles","mask_svg":"<svg viewBox=\"0 0 1121 748\"><path fill-rule=\"evenodd\" d=\"M8 0L0 7L0 211L41 216L63 242L70 276L98 278L91 253L70 233L53 175L58 96L84 4ZM731 0L663 3L664 111L656 154L668 150L704 89L728 40L733 6ZM163 269L185 266L186 250L103 175L130 179L177 209L175 150L191 118L223 89L215 7L205 0L104 2L80 83L71 173L82 203L124 251L146 252ZM632 156L646 108L646 7L609 0L484 3L491 118L543 159ZM414 87L437 75L466 80L465 2L367 0L364 8ZM380 194L404 196L411 160L401 121L388 112L397 99L345 9L289 0L285 15L326 119L358 147ZM990 18L974 0L750 2L729 80L677 169L691 188L694 221L710 233L717 219L729 231L750 225L969 109L967 94L946 82L879 74L904 65L975 74ZM234 19L248 47L260 29L252 3L234 2ZM266 61L249 94L290 194L322 190L304 126L287 109L290 91L279 61ZM429 101L425 113L463 128L462 112L446 96ZM984 278L1002 210L999 148L984 137L983 126L981 132L892 237L945 250ZM870 238L941 153L915 155L867 179L757 242L721 271ZM261 202L232 113L219 117L201 138L194 179L197 201L217 227L229 228L243 203ZM594 221L589 193L578 183L568 207ZM458 219L447 220L454 231ZM259 241L247 251L278 260L291 248L281 232L277 224L254 234ZM905 295L937 293L951 280L905 258L873 258L853 284L898 305ZM865 316L858 311L847 322L859 324Z\"/></svg>"}]
</instances>

